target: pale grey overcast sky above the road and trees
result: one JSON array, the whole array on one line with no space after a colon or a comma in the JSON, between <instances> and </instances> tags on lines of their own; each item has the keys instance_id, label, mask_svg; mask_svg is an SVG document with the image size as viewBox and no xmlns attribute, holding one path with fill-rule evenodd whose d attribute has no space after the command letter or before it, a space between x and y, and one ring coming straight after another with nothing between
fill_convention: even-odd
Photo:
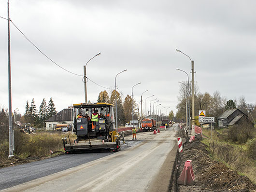
<instances>
[{"instance_id":1,"label":"pale grey overcast sky above the road and trees","mask_svg":"<svg viewBox=\"0 0 256 192\"><path fill-rule=\"evenodd\" d=\"M255 103L255 0L10 0L10 18L39 49L61 67L83 75L124 96L149 101L176 112L178 81L191 70L199 91L218 90L227 99L245 96ZM0 0L7 18L7 0ZM34 98L39 108L50 97L60 111L85 101L82 77L57 67L35 49L11 24L12 108L25 112ZM0 18L0 107L8 108L7 20ZM190 74L191 78L191 74ZM96 102L100 91L87 83ZM107 90L110 92L110 90ZM123 98L124 99L124 98ZM153 103L153 102L152 102ZM149 105L147 107L149 109ZM166 110L163 110L166 112Z\"/></svg>"}]
</instances>

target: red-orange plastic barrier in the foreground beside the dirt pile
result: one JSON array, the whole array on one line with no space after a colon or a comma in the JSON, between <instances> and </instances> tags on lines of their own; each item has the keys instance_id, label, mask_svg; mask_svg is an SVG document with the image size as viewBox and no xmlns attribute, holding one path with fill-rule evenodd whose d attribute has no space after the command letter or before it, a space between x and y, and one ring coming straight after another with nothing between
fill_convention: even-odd
<instances>
[{"instance_id":1,"label":"red-orange plastic barrier in the foreground beside the dirt pile","mask_svg":"<svg viewBox=\"0 0 256 192\"><path fill-rule=\"evenodd\" d=\"M178 184L180 185L194 185L195 176L192 169L192 161L186 160L183 171L178 178Z\"/></svg>"}]
</instances>

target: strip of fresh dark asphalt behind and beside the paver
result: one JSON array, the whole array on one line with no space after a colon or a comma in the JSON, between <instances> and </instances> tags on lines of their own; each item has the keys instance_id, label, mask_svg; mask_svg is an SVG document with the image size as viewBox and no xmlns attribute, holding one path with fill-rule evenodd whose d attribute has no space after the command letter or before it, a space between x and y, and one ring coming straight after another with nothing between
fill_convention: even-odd
<instances>
[{"instance_id":1,"label":"strip of fresh dark asphalt behind and beside the paver","mask_svg":"<svg viewBox=\"0 0 256 192\"><path fill-rule=\"evenodd\" d=\"M142 140L128 141L121 145L121 150L134 146ZM31 162L23 165L15 165L0 169L0 190L13 187L33 179L42 178L59 171L113 154L113 152L77 153L61 155L50 159Z\"/></svg>"}]
</instances>

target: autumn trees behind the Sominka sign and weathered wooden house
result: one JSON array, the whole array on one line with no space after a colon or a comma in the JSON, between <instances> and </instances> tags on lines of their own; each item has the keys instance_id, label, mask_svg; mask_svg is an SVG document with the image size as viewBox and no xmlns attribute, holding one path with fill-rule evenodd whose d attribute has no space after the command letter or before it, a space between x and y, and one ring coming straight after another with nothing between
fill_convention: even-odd
<instances>
[{"instance_id":1,"label":"autumn trees behind the Sominka sign and weathered wooden house","mask_svg":"<svg viewBox=\"0 0 256 192\"><path fill-rule=\"evenodd\" d=\"M190 100L190 116L192 117L192 88L191 84L187 89L187 86L184 84L180 85L180 91L178 96L177 112L175 118L180 120L186 119L186 96L189 95ZM251 120L256 119L256 104L247 103L244 96L240 96L238 100L236 99L227 99L225 96L221 96L219 91L215 91L211 96L208 92L200 93L197 84L195 83L195 116L198 116L199 110L206 110L207 116L212 116L217 118L225 110L239 108L245 114L248 114L248 111L252 114L249 115Z\"/></svg>"}]
</instances>

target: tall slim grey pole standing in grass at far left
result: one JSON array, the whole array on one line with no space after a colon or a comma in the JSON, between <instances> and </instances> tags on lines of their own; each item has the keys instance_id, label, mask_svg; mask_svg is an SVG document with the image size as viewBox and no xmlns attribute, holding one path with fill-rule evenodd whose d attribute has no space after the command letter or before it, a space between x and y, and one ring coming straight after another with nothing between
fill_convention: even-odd
<instances>
[{"instance_id":1,"label":"tall slim grey pole standing in grass at far left","mask_svg":"<svg viewBox=\"0 0 256 192\"><path fill-rule=\"evenodd\" d=\"M10 46L10 13L9 0L7 2L8 9L8 95L9 95L9 157L14 156L14 130L12 119L12 83L11 83L11 46Z\"/></svg>"}]
</instances>

